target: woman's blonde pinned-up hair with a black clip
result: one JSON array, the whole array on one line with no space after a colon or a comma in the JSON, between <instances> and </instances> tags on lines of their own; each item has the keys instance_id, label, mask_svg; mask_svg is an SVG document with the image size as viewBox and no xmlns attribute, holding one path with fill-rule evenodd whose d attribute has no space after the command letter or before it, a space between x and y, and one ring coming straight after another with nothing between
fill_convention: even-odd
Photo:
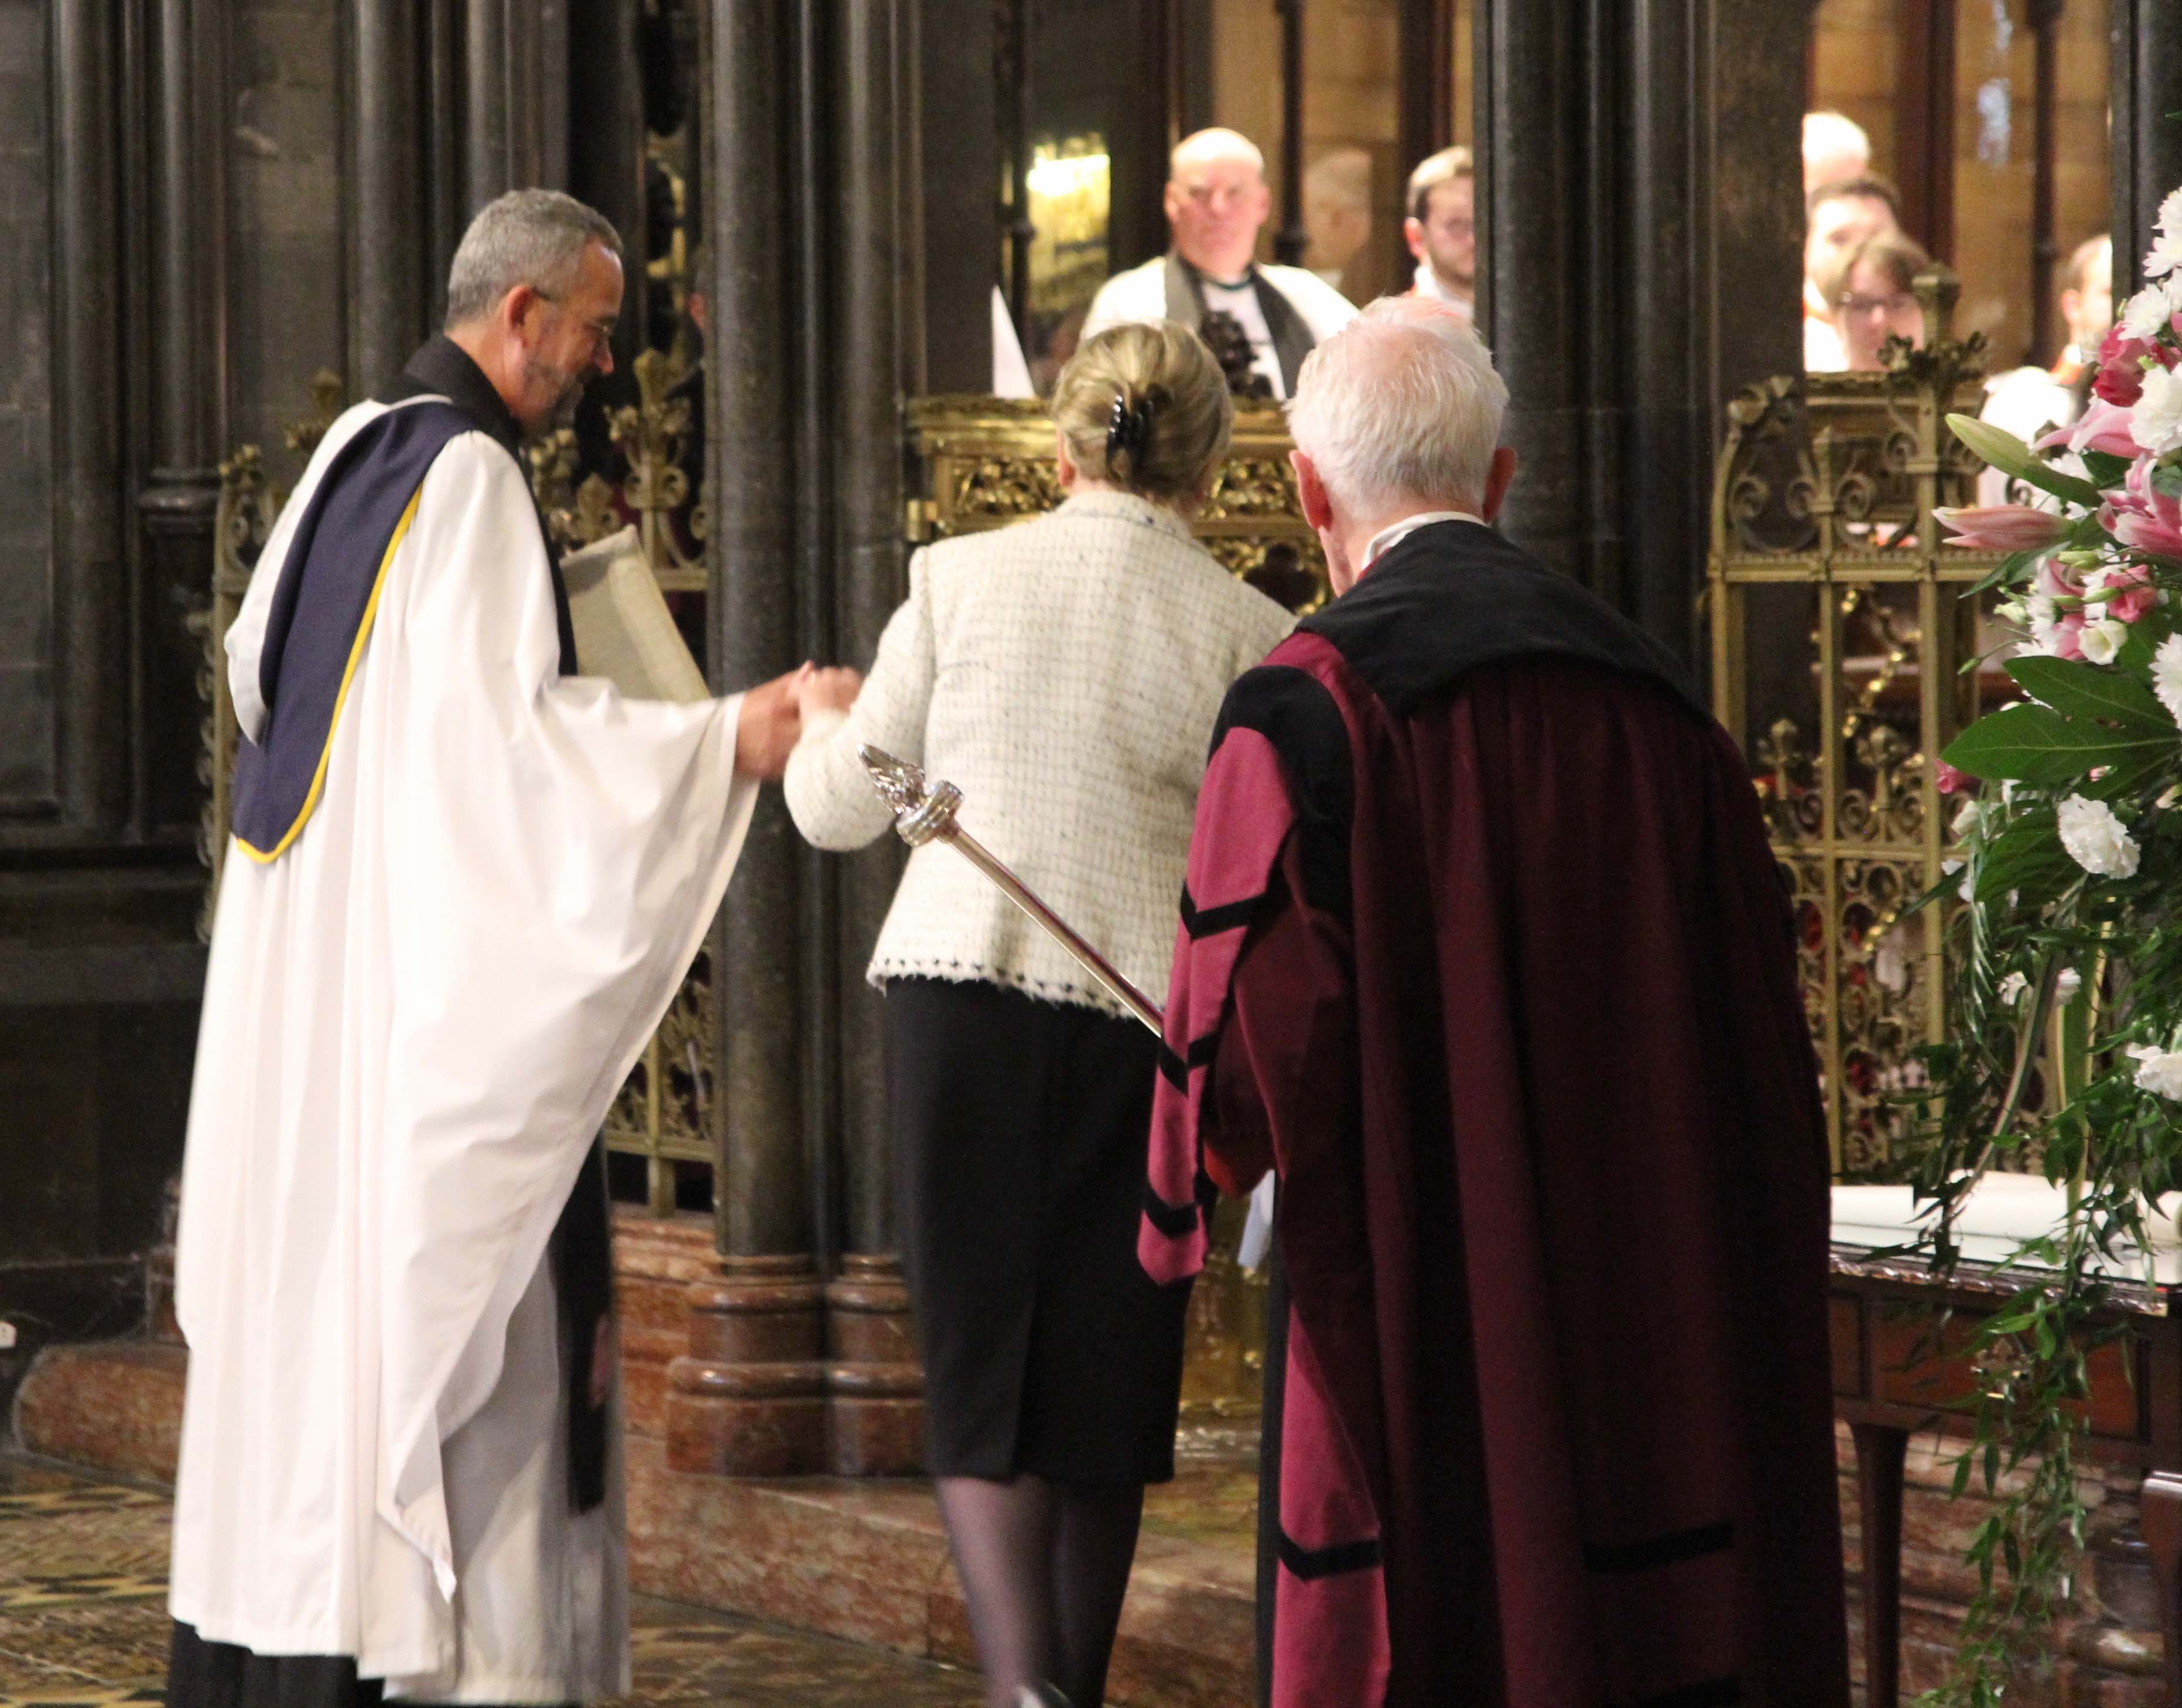
<instances>
[{"instance_id":1,"label":"woman's blonde pinned-up hair with a black clip","mask_svg":"<svg viewBox=\"0 0 2182 1708\"><path fill-rule=\"evenodd\" d=\"M1141 321L1084 338L1054 384L1054 425L1087 480L1176 504L1226 454L1235 404L1198 334Z\"/></svg>"}]
</instances>

